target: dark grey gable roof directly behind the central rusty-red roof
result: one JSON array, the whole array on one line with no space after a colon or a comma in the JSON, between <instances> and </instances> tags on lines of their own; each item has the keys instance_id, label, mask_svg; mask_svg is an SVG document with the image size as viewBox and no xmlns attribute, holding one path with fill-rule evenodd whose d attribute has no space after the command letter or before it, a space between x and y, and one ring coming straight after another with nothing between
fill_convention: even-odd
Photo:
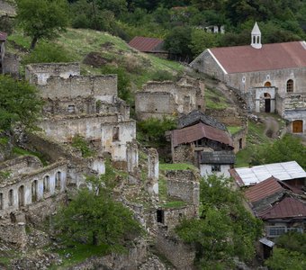
<instances>
[{"instance_id":1,"label":"dark grey gable roof directly behind the central rusty-red roof","mask_svg":"<svg viewBox=\"0 0 306 270\"><path fill-rule=\"evenodd\" d=\"M184 127L191 126L194 123L197 123L200 121L216 129L226 130L226 127L224 124L220 123L213 117L207 114L204 114L203 112L198 111L198 110L193 110L193 112L189 112L188 114L181 116L177 121L177 127L179 129L182 129Z\"/></svg>"}]
</instances>

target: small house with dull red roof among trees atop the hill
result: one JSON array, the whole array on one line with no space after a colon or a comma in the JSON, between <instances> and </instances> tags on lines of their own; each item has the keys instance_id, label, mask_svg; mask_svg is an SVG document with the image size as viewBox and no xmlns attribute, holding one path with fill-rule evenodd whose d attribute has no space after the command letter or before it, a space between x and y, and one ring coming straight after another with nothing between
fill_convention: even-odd
<instances>
[{"instance_id":1,"label":"small house with dull red roof among trees atop the hill","mask_svg":"<svg viewBox=\"0 0 306 270\"><path fill-rule=\"evenodd\" d=\"M146 53L153 53L158 57L167 58L168 53L164 47L164 40L156 38L135 37L129 42L130 47Z\"/></svg>"}]
</instances>

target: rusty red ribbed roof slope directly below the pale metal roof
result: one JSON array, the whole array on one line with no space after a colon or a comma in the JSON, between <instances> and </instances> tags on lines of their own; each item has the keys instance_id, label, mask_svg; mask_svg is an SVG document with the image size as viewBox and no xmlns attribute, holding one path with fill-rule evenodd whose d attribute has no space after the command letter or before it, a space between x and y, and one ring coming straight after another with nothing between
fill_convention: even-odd
<instances>
[{"instance_id":1,"label":"rusty red ribbed roof slope directly below the pale metal roof","mask_svg":"<svg viewBox=\"0 0 306 270\"><path fill-rule=\"evenodd\" d=\"M258 202L270 195L284 190L275 177L269 177L259 184L250 186L245 192L245 196L249 202Z\"/></svg>"}]
</instances>

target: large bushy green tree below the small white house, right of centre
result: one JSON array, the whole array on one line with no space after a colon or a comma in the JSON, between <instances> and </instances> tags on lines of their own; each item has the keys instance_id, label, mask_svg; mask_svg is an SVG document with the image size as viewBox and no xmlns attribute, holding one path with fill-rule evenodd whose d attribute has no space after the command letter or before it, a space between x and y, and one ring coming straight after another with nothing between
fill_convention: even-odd
<instances>
[{"instance_id":1,"label":"large bushy green tree below the small white house, right of centre","mask_svg":"<svg viewBox=\"0 0 306 270\"><path fill-rule=\"evenodd\" d=\"M262 223L243 205L243 196L231 180L210 175L200 183L200 219L183 220L175 229L196 247L196 263L203 269L232 266L233 257L247 260L255 255L255 241Z\"/></svg>"}]
</instances>

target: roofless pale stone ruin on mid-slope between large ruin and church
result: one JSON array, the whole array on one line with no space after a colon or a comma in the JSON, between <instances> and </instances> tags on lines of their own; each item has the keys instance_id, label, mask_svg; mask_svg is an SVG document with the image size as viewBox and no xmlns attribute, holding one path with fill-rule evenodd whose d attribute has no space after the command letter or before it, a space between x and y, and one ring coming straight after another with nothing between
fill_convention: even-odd
<instances>
[{"instance_id":1,"label":"roofless pale stone ruin on mid-slope between large ruin and church","mask_svg":"<svg viewBox=\"0 0 306 270\"><path fill-rule=\"evenodd\" d=\"M204 89L200 80L182 78L179 82L148 82L135 94L139 120L149 117L180 116L193 110L204 111Z\"/></svg>"}]
</instances>

